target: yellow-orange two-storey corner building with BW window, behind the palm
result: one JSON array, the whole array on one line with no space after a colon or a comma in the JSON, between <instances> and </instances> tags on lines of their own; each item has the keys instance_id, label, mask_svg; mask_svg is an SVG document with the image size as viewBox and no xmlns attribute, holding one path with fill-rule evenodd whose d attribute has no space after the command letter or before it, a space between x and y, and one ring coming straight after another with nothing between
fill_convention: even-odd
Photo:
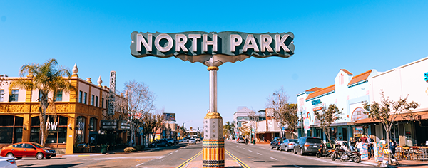
<instances>
[{"instance_id":1,"label":"yellow-orange two-storey corner building with BW window, behind the palm","mask_svg":"<svg viewBox=\"0 0 428 168\"><path fill-rule=\"evenodd\" d=\"M107 114L109 88L101 85L101 77L98 85L91 78L78 78L78 69L74 67L70 80L77 92L58 90L56 96L49 95L54 98L55 109L50 105L46 110L45 146L58 153L72 154L83 152L78 150L80 146L125 143L129 130L126 115L119 108L114 115ZM13 88L9 93L9 84L18 79L0 75L0 147L41 139L39 90ZM127 98L116 94L116 100L127 101Z\"/></svg>"}]
</instances>

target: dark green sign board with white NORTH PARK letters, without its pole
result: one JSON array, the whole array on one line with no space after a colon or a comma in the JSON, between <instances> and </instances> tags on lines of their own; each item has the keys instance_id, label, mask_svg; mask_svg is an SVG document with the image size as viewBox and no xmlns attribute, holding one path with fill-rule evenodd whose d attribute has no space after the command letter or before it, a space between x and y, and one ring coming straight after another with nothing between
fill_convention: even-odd
<instances>
[{"instance_id":1,"label":"dark green sign board with white NORTH PARK letters, without its pole","mask_svg":"<svg viewBox=\"0 0 428 168\"><path fill-rule=\"evenodd\" d=\"M183 33L131 33L131 55L183 57L198 55L253 56L288 58L294 54L294 34L242 33L236 31ZM183 59L183 58L182 58ZM188 58L187 58L188 59ZM185 60L184 60L185 61Z\"/></svg>"}]
</instances>

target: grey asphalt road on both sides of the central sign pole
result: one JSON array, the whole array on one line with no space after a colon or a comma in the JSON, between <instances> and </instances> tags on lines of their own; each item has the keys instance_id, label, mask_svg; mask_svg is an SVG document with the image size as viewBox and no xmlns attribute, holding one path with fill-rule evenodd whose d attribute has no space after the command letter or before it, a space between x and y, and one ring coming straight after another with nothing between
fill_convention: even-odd
<instances>
[{"instance_id":1,"label":"grey asphalt road on both sides of the central sign pole","mask_svg":"<svg viewBox=\"0 0 428 168\"><path fill-rule=\"evenodd\" d=\"M245 145L225 142L226 167L370 167L366 164L332 161L330 158L300 156L292 152L269 149L268 145ZM24 158L16 162L19 167L202 167L202 143L180 143L173 147L160 147L145 152L128 154L73 154L38 160Z\"/></svg>"}]
</instances>

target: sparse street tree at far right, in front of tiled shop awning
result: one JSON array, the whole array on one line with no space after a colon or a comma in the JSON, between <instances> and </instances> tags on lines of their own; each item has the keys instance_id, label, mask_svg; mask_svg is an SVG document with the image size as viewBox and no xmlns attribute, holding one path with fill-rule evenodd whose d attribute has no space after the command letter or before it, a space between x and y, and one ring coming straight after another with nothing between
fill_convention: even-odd
<instances>
[{"instance_id":1,"label":"sparse street tree at far right, in front of tiled shop awning","mask_svg":"<svg viewBox=\"0 0 428 168\"><path fill-rule=\"evenodd\" d=\"M398 101L389 100L389 98L385 97L384 91L380 91L381 100L380 103L374 102L372 104L364 103L365 113L370 120L377 120L382 123L385 132L391 132L392 125L394 125L395 119L397 119L398 115L403 111L412 112L410 109L415 109L419 105L414 101L407 103L407 98L399 98ZM387 133L387 142L389 142L389 133ZM389 147L389 143L388 143ZM391 157L388 157L389 162L391 162Z\"/></svg>"}]
</instances>

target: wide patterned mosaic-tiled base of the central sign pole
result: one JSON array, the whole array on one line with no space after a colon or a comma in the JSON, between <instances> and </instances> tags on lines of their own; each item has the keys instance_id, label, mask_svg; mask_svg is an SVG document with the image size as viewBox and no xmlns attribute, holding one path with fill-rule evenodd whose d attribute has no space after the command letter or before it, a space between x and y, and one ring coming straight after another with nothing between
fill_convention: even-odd
<instances>
[{"instance_id":1,"label":"wide patterned mosaic-tiled base of the central sign pole","mask_svg":"<svg viewBox=\"0 0 428 168\"><path fill-rule=\"evenodd\" d=\"M203 120L204 138L202 167L225 167L223 118L218 112L208 112Z\"/></svg>"}]
</instances>

